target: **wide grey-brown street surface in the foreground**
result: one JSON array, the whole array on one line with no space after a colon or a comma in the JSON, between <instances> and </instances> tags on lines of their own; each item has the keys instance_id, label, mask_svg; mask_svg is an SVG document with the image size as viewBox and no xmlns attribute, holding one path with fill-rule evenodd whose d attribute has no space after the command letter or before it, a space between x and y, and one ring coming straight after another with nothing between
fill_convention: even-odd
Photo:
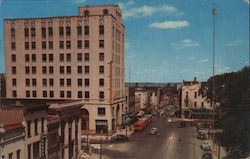
<instances>
[{"instance_id":1,"label":"wide grey-brown street surface in the foreground","mask_svg":"<svg viewBox=\"0 0 250 159\"><path fill-rule=\"evenodd\" d=\"M164 116L154 118L143 132L135 132L125 143L103 145L105 159L198 159L202 156L195 128L178 128L179 123L168 122ZM160 129L160 135L148 135L151 127Z\"/></svg>"}]
</instances>

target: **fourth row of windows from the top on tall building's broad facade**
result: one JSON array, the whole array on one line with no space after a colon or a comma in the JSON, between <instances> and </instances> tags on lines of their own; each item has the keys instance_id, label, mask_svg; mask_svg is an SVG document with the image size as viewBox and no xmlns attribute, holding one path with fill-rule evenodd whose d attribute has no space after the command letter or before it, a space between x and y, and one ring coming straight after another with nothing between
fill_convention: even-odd
<instances>
[{"instance_id":1,"label":"fourth row of windows from the top on tall building's broad facade","mask_svg":"<svg viewBox=\"0 0 250 159\"><path fill-rule=\"evenodd\" d=\"M31 69L30 69L31 68ZM83 74L83 69L84 69L84 74L88 75L90 73L90 66L77 66L77 74ZM53 66L42 66L42 74L54 74L54 67ZM36 74L37 73L37 67L36 66L26 66L25 67L25 74ZM72 67L71 66L60 66L59 67L59 73L60 74L71 74L72 73ZM17 74L17 67L12 66L12 74L16 75ZM104 74L104 66L99 66L99 74L103 75Z\"/></svg>"}]
</instances>

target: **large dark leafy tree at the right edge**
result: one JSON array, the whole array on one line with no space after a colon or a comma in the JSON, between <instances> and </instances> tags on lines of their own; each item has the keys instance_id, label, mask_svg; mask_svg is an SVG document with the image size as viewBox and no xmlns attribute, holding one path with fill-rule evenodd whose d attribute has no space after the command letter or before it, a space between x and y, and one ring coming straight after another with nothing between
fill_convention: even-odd
<instances>
[{"instance_id":1,"label":"large dark leafy tree at the right edge","mask_svg":"<svg viewBox=\"0 0 250 159\"><path fill-rule=\"evenodd\" d=\"M217 140L229 156L237 158L250 152L250 67L209 78L199 90L209 100L213 97L213 78L214 101L219 103L218 125L222 129Z\"/></svg>"}]
</instances>

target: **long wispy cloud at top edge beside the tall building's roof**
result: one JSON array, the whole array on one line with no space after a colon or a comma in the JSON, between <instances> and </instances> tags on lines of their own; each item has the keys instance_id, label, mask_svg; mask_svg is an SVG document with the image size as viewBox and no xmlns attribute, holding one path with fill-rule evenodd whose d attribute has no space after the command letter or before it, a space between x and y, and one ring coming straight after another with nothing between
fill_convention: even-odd
<instances>
[{"instance_id":1,"label":"long wispy cloud at top edge beside the tall building's roof","mask_svg":"<svg viewBox=\"0 0 250 159\"><path fill-rule=\"evenodd\" d=\"M182 12L178 11L174 6L172 5L162 5L160 7L154 7L154 6L148 6L148 5L143 5L140 7L131 7L135 3L133 0L129 0L126 3L118 3L122 13L123 17L148 17L152 16L154 14L171 14L171 15L176 15L180 16L183 15Z\"/></svg>"}]
</instances>

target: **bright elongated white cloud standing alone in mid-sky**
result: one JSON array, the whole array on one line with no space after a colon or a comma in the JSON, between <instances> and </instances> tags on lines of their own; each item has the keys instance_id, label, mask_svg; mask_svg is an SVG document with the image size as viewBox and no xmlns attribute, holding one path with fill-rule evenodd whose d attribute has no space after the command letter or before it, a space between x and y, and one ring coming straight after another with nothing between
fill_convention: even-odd
<instances>
[{"instance_id":1,"label":"bright elongated white cloud standing alone in mid-sky","mask_svg":"<svg viewBox=\"0 0 250 159\"><path fill-rule=\"evenodd\" d=\"M190 24L187 21L164 21L164 22L154 22L149 25L151 28L156 29L178 29L183 27L188 27Z\"/></svg>"}]
</instances>

